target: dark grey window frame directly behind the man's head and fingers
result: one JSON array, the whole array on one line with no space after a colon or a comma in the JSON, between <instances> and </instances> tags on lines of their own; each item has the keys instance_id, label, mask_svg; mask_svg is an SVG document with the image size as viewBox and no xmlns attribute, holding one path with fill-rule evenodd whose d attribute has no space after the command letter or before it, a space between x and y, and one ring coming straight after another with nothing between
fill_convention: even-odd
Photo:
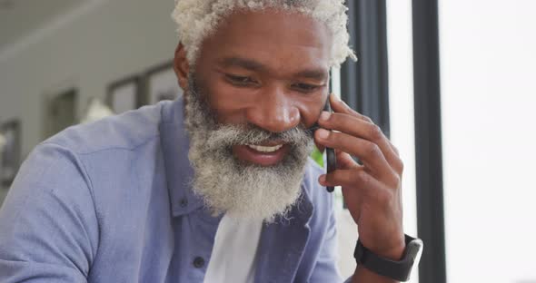
<instances>
[{"instance_id":1,"label":"dark grey window frame directly behind the man's head and fingers","mask_svg":"<svg viewBox=\"0 0 536 283\"><path fill-rule=\"evenodd\" d=\"M348 1L350 46L358 63L347 60L341 67L341 96L353 110L372 119L387 137L389 77L385 0Z\"/></svg>"}]
</instances>

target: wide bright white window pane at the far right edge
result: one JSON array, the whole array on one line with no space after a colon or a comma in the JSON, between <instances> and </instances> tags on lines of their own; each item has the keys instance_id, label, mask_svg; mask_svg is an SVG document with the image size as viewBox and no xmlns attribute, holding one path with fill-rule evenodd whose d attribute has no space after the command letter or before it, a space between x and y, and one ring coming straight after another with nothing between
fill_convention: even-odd
<instances>
[{"instance_id":1,"label":"wide bright white window pane at the far right edge","mask_svg":"<svg viewBox=\"0 0 536 283\"><path fill-rule=\"evenodd\" d=\"M449 282L536 282L534 11L440 1Z\"/></svg>"}]
</instances>

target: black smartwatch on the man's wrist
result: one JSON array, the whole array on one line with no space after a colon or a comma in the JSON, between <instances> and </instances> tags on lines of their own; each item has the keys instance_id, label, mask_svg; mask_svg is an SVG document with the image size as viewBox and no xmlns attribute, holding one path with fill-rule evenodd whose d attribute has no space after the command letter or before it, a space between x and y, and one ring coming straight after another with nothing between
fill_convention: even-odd
<instances>
[{"instance_id":1,"label":"black smartwatch on the man's wrist","mask_svg":"<svg viewBox=\"0 0 536 283\"><path fill-rule=\"evenodd\" d=\"M357 246L353 252L353 257L358 266L362 266L372 272L386 278L398 281L408 281L412 275L413 267L419 265L422 255L422 240L405 235L406 249L404 249L401 260L385 259L374 254L370 249L365 248L361 240L357 240Z\"/></svg>"}]
</instances>

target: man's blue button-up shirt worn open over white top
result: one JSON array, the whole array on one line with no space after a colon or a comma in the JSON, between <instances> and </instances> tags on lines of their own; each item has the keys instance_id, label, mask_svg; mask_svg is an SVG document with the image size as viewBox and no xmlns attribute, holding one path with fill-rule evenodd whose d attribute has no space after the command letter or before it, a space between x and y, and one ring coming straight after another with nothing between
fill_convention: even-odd
<instances>
[{"instance_id":1,"label":"man's blue button-up shirt worn open over white top","mask_svg":"<svg viewBox=\"0 0 536 283\"><path fill-rule=\"evenodd\" d=\"M0 210L0 282L203 282L221 218L189 187L183 102L39 144ZM289 220L263 224L255 282L339 282L333 198L309 161Z\"/></svg>"}]
</instances>

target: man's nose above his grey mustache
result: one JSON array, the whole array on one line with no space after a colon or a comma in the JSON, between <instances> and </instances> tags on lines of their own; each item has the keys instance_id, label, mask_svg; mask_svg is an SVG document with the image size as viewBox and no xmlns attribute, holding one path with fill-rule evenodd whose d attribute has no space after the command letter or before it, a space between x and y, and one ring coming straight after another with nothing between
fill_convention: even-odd
<instances>
[{"instance_id":1,"label":"man's nose above his grey mustache","mask_svg":"<svg viewBox=\"0 0 536 283\"><path fill-rule=\"evenodd\" d=\"M262 97L246 112L248 122L270 132L284 132L300 123L300 111L283 88L259 93Z\"/></svg>"}]
</instances>

